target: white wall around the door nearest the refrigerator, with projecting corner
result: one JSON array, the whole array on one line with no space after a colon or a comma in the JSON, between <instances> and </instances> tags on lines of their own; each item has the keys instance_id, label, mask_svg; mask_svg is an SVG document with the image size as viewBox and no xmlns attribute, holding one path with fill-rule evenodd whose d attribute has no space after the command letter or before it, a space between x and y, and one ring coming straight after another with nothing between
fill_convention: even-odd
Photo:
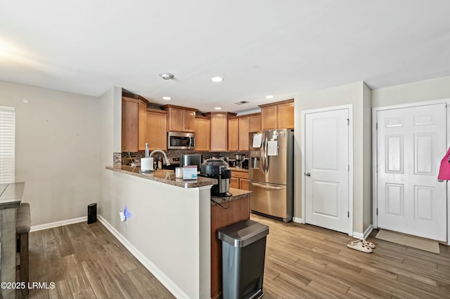
<instances>
[{"instance_id":1,"label":"white wall around the door nearest the refrigerator, with projecting corner","mask_svg":"<svg viewBox=\"0 0 450 299\"><path fill-rule=\"evenodd\" d=\"M371 222L371 113L370 91L364 82L356 82L345 86L328 88L322 91L303 93L295 97L295 117L300 117L302 111L351 104L353 107L353 230L362 234ZM301 121L295 121L295 218L302 215L302 144ZM368 133L369 132L369 133ZM369 134L368 138L365 134ZM367 144L368 142L368 144ZM369 185L365 185L369 182ZM368 217L368 219L364 219Z\"/></svg>"}]
</instances>

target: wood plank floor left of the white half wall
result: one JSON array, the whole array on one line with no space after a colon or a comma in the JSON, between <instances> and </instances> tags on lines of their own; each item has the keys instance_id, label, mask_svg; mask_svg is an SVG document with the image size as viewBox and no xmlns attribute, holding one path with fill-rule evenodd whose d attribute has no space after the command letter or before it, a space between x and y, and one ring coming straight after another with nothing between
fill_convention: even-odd
<instances>
[{"instance_id":1,"label":"wood plank floor left of the white half wall","mask_svg":"<svg viewBox=\"0 0 450 299\"><path fill-rule=\"evenodd\" d=\"M48 288L27 298L174 298L100 222L30 232L32 282Z\"/></svg>"}]
</instances>

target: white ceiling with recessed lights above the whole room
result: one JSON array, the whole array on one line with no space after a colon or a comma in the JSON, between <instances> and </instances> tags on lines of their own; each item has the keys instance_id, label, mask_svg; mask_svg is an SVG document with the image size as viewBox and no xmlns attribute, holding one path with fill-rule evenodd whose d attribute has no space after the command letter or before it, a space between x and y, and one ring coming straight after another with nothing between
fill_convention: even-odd
<instances>
[{"instance_id":1,"label":"white ceiling with recessed lights above the whole room","mask_svg":"<svg viewBox=\"0 0 450 299\"><path fill-rule=\"evenodd\" d=\"M447 0L0 0L0 81L251 112L355 81L449 76L449 15Z\"/></svg>"}]
</instances>

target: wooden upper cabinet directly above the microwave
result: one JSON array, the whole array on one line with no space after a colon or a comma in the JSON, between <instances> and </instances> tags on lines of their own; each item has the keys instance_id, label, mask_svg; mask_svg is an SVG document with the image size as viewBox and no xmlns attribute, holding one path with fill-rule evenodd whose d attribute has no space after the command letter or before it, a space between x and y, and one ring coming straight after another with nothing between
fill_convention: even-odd
<instances>
[{"instance_id":1,"label":"wooden upper cabinet directly above the microwave","mask_svg":"<svg viewBox=\"0 0 450 299\"><path fill-rule=\"evenodd\" d=\"M197 109L164 105L161 109L169 112L167 117L167 131L195 132L195 112Z\"/></svg>"}]
</instances>

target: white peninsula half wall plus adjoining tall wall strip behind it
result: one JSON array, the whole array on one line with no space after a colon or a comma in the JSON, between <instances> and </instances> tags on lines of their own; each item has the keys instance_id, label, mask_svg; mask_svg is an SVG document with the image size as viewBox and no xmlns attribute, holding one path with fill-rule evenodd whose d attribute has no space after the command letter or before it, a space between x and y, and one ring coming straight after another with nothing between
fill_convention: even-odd
<instances>
[{"instance_id":1,"label":"white peninsula half wall plus adjoining tall wall strip behind it","mask_svg":"<svg viewBox=\"0 0 450 299\"><path fill-rule=\"evenodd\" d=\"M99 218L177 298L210 298L210 188L106 170L120 152L122 89L110 88L100 102ZM128 224L119 218L125 205Z\"/></svg>"}]
</instances>

